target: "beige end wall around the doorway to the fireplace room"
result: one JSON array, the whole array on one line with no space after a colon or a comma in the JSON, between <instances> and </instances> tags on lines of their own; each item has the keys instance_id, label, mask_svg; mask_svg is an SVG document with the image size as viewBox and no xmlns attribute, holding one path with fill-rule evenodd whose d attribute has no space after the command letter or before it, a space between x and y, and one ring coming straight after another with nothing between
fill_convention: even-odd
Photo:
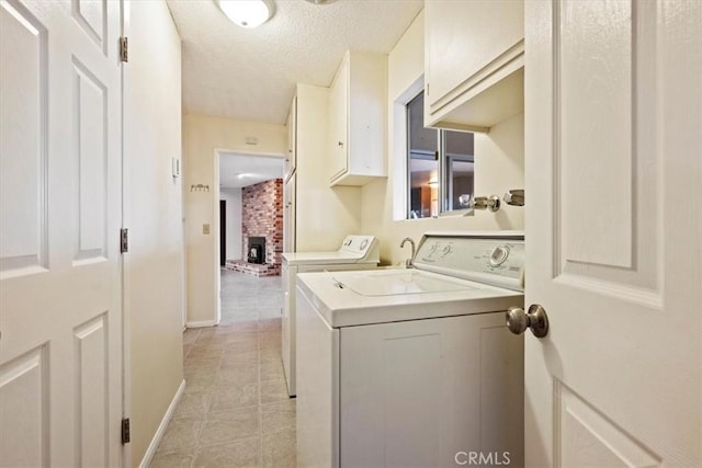
<instances>
[{"instance_id":1,"label":"beige end wall around the doorway to the fireplace room","mask_svg":"<svg viewBox=\"0 0 702 468\"><path fill-rule=\"evenodd\" d=\"M246 137L258 145L246 144ZM218 318L219 174L217 149L246 155L287 153L283 125L203 115L183 116L183 192L188 271L188 317L191 327L213 326ZM191 184L210 185L210 192L190 192ZM203 225L210 225L210 235Z\"/></svg>"}]
</instances>

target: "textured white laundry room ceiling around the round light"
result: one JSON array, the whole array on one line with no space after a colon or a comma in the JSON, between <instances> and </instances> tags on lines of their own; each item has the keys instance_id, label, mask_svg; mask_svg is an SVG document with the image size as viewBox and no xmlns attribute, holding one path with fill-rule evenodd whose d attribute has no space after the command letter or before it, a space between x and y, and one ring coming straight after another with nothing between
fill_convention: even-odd
<instances>
[{"instance_id":1,"label":"textured white laundry room ceiling around the round light","mask_svg":"<svg viewBox=\"0 0 702 468\"><path fill-rule=\"evenodd\" d=\"M274 0L257 28L214 0L167 0L182 39L188 113L284 124L295 83L327 87L348 48L389 53L423 0Z\"/></svg>"}]
</instances>

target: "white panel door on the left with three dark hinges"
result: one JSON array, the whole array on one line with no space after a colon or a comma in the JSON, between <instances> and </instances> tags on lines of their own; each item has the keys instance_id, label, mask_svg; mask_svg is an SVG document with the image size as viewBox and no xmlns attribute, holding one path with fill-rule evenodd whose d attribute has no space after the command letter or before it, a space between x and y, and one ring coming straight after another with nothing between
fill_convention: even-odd
<instances>
[{"instance_id":1,"label":"white panel door on the left with three dark hinges","mask_svg":"<svg viewBox=\"0 0 702 468\"><path fill-rule=\"evenodd\" d=\"M0 466L122 463L121 2L0 1Z\"/></svg>"}]
</instances>

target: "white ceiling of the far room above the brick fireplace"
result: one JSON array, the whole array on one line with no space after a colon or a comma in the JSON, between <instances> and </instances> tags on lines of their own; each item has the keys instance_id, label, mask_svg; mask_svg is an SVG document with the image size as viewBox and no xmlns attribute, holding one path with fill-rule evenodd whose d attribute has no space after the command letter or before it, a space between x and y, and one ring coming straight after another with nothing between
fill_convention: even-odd
<instances>
[{"instance_id":1,"label":"white ceiling of the far room above the brick fireplace","mask_svg":"<svg viewBox=\"0 0 702 468\"><path fill-rule=\"evenodd\" d=\"M283 176L283 159L219 153L219 186L244 187Z\"/></svg>"}]
</instances>

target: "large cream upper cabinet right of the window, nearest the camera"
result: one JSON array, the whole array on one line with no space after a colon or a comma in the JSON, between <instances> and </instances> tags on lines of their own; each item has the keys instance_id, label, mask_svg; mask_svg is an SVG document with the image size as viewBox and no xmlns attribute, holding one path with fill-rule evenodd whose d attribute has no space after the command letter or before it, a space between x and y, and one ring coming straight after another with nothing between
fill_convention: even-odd
<instances>
[{"instance_id":1,"label":"large cream upper cabinet right of the window, nearest the camera","mask_svg":"<svg viewBox=\"0 0 702 468\"><path fill-rule=\"evenodd\" d=\"M521 0L424 2L424 125L471 132L523 112Z\"/></svg>"}]
</instances>

